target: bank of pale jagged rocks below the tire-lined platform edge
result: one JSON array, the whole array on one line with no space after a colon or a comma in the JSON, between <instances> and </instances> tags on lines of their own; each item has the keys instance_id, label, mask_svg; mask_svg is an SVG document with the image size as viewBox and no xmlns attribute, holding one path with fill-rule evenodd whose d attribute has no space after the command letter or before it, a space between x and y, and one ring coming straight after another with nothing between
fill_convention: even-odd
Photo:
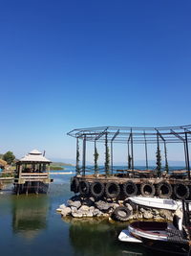
<instances>
[{"instance_id":1,"label":"bank of pale jagged rocks below the tire-lined platform edge","mask_svg":"<svg viewBox=\"0 0 191 256\"><path fill-rule=\"evenodd\" d=\"M127 218L118 218L117 209L127 209ZM174 211L163 209L150 209L146 207L136 207L130 204L128 198L125 200L99 199L93 197L84 198L82 196L74 196L67 203L61 204L57 211L63 218L71 216L73 218L111 218L115 221L131 221L131 220L155 220L155 221L172 221ZM124 212L121 211L121 215ZM119 215L120 215L119 214Z\"/></svg>"}]
</instances>

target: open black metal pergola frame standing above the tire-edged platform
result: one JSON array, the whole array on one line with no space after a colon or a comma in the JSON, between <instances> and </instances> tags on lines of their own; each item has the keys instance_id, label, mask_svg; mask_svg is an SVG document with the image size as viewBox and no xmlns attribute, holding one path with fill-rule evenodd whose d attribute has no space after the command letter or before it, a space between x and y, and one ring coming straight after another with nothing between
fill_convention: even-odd
<instances>
[{"instance_id":1,"label":"open black metal pergola frame standing above the tire-edged platform","mask_svg":"<svg viewBox=\"0 0 191 256\"><path fill-rule=\"evenodd\" d=\"M86 170L86 142L102 142L111 144L111 175L113 175L113 143L126 144L128 155L131 155L131 169L134 171L134 145L143 144L145 147L146 169L148 169L148 144L163 143L164 153L167 154L166 145L171 143L181 143L184 147L185 167L190 179L189 143L191 142L191 125L180 127L162 128L136 128L136 127L98 127L98 128L76 128L68 135L83 141L82 152L82 174ZM77 150L77 149L76 149ZM107 147L106 147L107 153ZM77 152L76 152L77 154Z\"/></svg>"}]
</instances>

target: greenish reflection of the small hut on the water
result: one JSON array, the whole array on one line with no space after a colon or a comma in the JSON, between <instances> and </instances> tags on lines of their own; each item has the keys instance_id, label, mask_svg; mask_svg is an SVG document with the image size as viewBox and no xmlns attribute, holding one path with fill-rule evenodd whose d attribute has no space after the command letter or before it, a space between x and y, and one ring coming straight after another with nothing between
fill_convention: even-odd
<instances>
[{"instance_id":1,"label":"greenish reflection of the small hut on the water","mask_svg":"<svg viewBox=\"0 0 191 256\"><path fill-rule=\"evenodd\" d=\"M49 202L45 195L12 198L12 231L32 240L47 228Z\"/></svg>"}]
</instances>

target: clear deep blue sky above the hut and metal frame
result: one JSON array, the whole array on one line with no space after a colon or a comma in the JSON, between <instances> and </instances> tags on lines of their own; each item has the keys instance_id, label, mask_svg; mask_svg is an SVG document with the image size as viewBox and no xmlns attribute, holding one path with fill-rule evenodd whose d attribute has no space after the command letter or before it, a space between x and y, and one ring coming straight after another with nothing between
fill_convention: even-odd
<instances>
[{"instance_id":1,"label":"clear deep blue sky above the hut and metal frame","mask_svg":"<svg viewBox=\"0 0 191 256\"><path fill-rule=\"evenodd\" d=\"M188 0L1 1L0 152L74 158L73 128L190 124L190 13Z\"/></svg>"}]
</instances>

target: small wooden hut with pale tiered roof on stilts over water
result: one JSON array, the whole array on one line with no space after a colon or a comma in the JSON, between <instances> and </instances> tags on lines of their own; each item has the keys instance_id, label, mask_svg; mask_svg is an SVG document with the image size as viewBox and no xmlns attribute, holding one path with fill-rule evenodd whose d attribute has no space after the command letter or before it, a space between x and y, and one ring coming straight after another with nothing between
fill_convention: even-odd
<instances>
[{"instance_id":1,"label":"small wooden hut with pale tiered roof on stilts over water","mask_svg":"<svg viewBox=\"0 0 191 256\"><path fill-rule=\"evenodd\" d=\"M14 191L16 194L34 192L46 193L50 178L51 161L40 151L33 150L16 163Z\"/></svg>"}]
</instances>

